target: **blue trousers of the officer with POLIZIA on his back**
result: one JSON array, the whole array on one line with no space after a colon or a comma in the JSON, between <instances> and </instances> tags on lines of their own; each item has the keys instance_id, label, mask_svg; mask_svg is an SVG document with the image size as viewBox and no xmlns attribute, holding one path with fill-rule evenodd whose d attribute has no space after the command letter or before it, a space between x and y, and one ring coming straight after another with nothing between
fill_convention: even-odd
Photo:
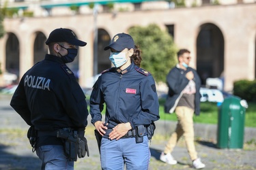
<instances>
[{"instance_id":1,"label":"blue trousers of the officer with POLIZIA on his back","mask_svg":"<svg viewBox=\"0 0 256 170\"><path fill-rule=\"evenodd\" d=\"M36 154L42 160L41 169L59 169L73 170L74 161L68 161L64 154L63 146L47 145L40 146L36 150Z\"/></svg>"}]
</instances>

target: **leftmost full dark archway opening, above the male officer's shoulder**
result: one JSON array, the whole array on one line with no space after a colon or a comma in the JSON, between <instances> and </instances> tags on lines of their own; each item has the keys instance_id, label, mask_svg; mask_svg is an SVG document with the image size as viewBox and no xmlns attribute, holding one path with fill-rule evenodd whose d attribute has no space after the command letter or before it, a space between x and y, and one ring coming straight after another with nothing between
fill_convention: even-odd
<instances>
[{"instance_id":1,"label":"leftmost full dark archway opening, above the male officer's shoulder","mask_svg":"<svg viewBox=\"0 0 256 170\"><path fill-rule=\"evenodd\" d=\"M8 33L5 46L5 70L14 73L19 80L20 75L20 43L14 33Z\"/></svg>"}]
</instances>

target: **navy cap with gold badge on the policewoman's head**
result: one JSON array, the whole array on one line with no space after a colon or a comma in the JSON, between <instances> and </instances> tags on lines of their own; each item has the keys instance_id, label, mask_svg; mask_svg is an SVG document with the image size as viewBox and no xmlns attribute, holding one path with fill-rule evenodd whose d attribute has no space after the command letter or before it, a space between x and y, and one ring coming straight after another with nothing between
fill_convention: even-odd
<instances>
[{"instance_id":1,"label":"navy cap with gold badge on the policewoman's head","mask_svg":"<svg viewBox=\"0 0 256 170\"><path fill-rule=\"evenodd\" d=\"M134 41L130 35L126 33L118 33L113 37L109 46L106 46L104 50L109 50L109 48L113 48L117 51L122 51L125 48L134 48Z\"/></svg>"}]
</instances>

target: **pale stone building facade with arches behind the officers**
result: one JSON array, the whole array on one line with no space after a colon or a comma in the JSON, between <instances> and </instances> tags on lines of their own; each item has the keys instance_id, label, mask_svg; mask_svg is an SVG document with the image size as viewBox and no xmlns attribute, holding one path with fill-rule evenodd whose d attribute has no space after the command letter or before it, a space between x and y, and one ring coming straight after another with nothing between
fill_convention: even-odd
<instances>
[{"instance_id":1,"label":"pale stone building facade with arches behind the officers","mask_svg":"<svg viewBox=\"0 0 256 170\"><path fill-rule=\"evenodd\" d=\"M47 52L44 42L51 31L63 27L72 29L79 39L87 42L70 65L75 73L79 71L79 84L87 86L87 78L111 67L109 53L103 48L113 35L151 23L169 29L175 44L191 51L192 67L199 71L203 81L222 77L224 89L232 90L236 80L255 79L256 3L99 13L97 17L91 13L5 18L6 34L0 39L1 69L20 78L44 58ZM98 39L98 44L94 44L94 39ZM98 50L94 51L94 46Z\"/></svg>"}]
</instances>

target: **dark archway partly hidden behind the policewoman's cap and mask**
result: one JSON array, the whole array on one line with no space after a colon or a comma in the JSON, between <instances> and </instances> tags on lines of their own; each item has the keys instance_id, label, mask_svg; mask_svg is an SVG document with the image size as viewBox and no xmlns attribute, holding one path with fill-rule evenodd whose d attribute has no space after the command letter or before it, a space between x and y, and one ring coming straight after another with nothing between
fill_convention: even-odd
<instances>
[{"instance_id":1,"label":"dark archway partly hidden behind the policewoman's cap and mask","mask_svg":"<svg viewBox=\"0 0 256 170\"><path fill-rule=\"evenodd\" d=\"M106 46L109 46L110 41L109 33L104 29L98 29L98 73L111 67L111 61L109 61L110 52L109 50L104 50Z\"/></svg>"}]
</instances>

